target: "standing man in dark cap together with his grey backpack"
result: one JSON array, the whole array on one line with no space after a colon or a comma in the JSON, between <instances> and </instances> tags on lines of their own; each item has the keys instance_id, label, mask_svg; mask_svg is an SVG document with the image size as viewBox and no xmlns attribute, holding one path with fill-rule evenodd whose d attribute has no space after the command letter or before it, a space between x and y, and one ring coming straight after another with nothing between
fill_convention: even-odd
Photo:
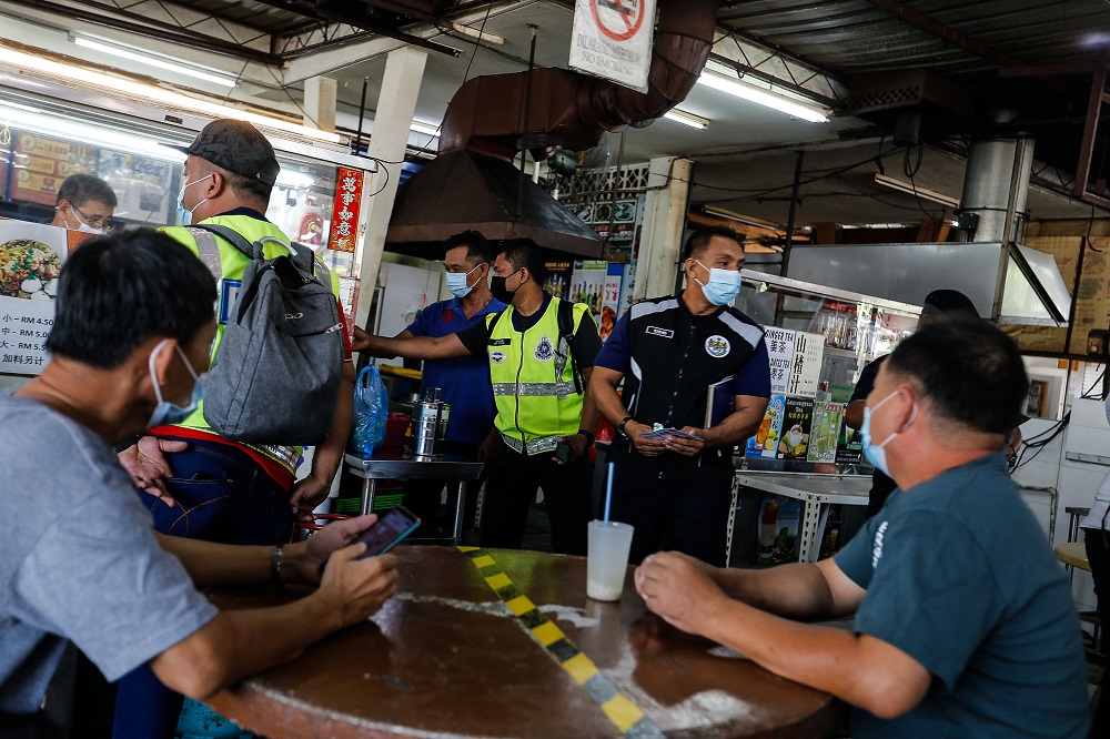
<instances>
[{"instance_id":1,"label":"standing man in dark cap together with his grey backpack","mask_svg":"<svg viewBox=\"0 0 1110 739\"><path fill-rule=\"evenodd\" d=\"M327 496L350 432L355 373L339 283L266 220L280 166L254 126L213 121L176 148L189 155L182 225L163 231L218 280L212 367L189 406L159 404L120 462L157 530L280 545L294 518ZM185 370L200 376L209 367ZM315 446L312 469L295 482L304 446ZM135 670L120 682L118 733L144 726L144 736L173 736L180 706L149 669Z\"/></svg>"}]
</instances>

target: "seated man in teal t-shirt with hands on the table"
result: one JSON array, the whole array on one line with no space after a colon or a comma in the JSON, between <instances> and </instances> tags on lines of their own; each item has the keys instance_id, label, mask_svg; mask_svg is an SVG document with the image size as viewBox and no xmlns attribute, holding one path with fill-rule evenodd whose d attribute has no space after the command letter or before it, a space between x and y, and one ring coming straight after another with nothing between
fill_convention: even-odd
<instances>
[{"instance_id":1,"label":"seated man in teal t-shirt with hands on the table","mask_svg":"<svg viewBox=\"0 0 1110 739\"><path fill-rule=\"evenodd\" d=\"M664 553L638 591L675 626L855 706L857 739L1086 737L1068 580L1001 451L1028 385L997 327L922 327L879 370L861 428L899 489L834 559L724 570ZM798 622L850 614L855 631Z\"/></svg>"}]
</instances>

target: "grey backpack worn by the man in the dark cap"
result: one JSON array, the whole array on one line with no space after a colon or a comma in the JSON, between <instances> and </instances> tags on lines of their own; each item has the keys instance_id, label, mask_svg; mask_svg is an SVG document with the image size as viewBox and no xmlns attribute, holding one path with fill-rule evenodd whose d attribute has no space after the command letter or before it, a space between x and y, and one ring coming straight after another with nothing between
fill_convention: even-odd
<instances>
[{"instance_id":1,"label":"grey backpack worn by the man in the dark cap","mask_svg":"<svg viewBox=\"0 0 1110 739\"><path fill-rule=\"evenodd\" d=\"M218 283L220 247L212 234L251 260L205 382L204 419L235 442L320 444L331 428L343 373L343 332L327 269L301 244L272 236L252 244L214 224L189 231ZM289 256L264 259L270 241Z\"/></svg>"}]
</instances>

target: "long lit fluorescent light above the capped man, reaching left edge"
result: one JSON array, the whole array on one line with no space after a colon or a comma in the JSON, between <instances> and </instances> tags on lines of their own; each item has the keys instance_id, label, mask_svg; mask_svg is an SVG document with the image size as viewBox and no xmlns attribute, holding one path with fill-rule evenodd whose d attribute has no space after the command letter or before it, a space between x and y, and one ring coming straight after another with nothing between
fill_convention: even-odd
<instances>
[{"instance_id":1,"label":"long lit fluorescent light above the capped man, reaching left edge","mask_svg":"<svg viewBox=\"0 0 1110 739\"><path fill-rule=\"evenodd\" d=\"M326 141L327 143L333 144L337 144L343 141L343 136L337 133L332 133L331 131L310 129L299 123L283 121L280 118L261 115L259 113L252 113L250 111L240 110L239 108L232 108L230 105L221 105L220 103L192 98L180 92L159 88L153 84L147 84L145 82L139 82L130 78L105 74L104 72L98 72L84 67L56 62L42 57L23 53L22 51L17 51L16 49L11 49L6 45L0 45L0 63L11 64L20 69L32 69L65 80L85 82L107 90L124 89L128 93L140 95L148 100L155 100L176 108L205 113L212 118L233 118L235 120L255 123L258 125L275 129L278 131L285 131L306 139Z\"/></svg>"}]
</instances>

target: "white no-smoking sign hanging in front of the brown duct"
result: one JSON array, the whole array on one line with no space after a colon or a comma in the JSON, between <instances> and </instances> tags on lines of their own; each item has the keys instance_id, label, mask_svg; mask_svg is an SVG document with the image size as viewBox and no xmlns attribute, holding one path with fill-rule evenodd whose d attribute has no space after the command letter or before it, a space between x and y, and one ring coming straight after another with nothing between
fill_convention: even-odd
<instances>
[{"instance_id":1,"label":"white no-smoking sign hanging in front of the brown duct","mask_svg":"<svg viewBox=\"0 0 1110 739\"><path fill-rule=\"evenodd\" d=\"M647 92L655 0L577 0L571 69Z\"/></svg>"}]
</instances>

